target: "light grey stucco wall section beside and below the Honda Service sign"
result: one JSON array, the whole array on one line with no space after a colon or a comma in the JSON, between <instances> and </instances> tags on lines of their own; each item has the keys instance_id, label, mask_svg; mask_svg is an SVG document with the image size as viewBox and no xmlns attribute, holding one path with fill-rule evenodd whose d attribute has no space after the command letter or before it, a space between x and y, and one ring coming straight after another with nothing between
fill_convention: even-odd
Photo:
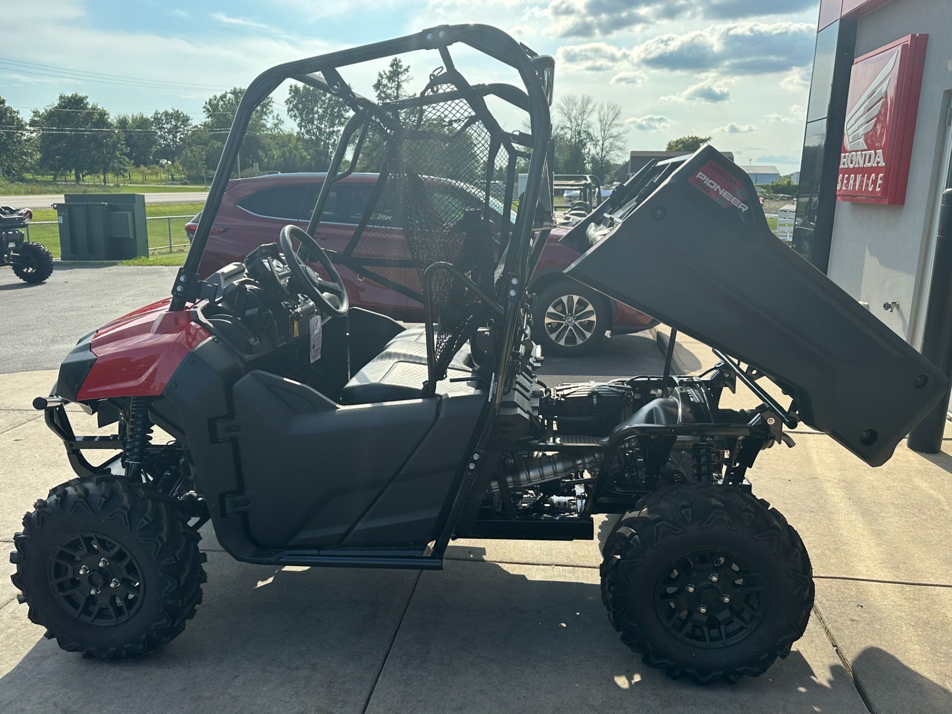
<instances>
[{"instance_id":1,"label":"light grey stucco wall section beside and below the Honda Service sign","mask_svg":"<svg viewBox=\"0 0 952 714\"><path fill-rule=\"evenodd\" d=\"M913 343L917 294L938 200L945 111L952 90L952 2L892 0L859 20L856 56L907 34L929 36L903 206L837 204L827 274ZM883 303L898 301L893 312Z\"/></svg>"}]
</instances>

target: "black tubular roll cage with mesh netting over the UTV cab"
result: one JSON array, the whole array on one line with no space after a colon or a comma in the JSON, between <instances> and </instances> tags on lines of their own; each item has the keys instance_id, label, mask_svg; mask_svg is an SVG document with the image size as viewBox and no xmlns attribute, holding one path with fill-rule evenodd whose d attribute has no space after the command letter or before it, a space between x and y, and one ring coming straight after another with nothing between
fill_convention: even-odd
<instances>
[{"instance_id":1,"label":"black tubular roll cage with mesh netting over the UTV cab","mask_svg":"<svg viewBox=\"0 0 952 714\"><path fill-rule=\"evenodd\" d=\"M502 83L470 85L454 64L450 52L454 44L465 45L515 69L523 87ZM430 75L420 95L377 103L350 89L341 74L341 69L348 66L413 50L437 50L443 62L443 67ZM479 460L490 451L491 436L499 428L504 394L512 391L520 372L534 359L529 354L530 343L525 339L526 288L528 277L554 225L548 169L552 155L549 107L554 62L551 57L538 55L517 43L502 30L485 25L444 25L266 70L248 85L235 112L188 256L176 275L169 311L185 309L189 304L215 294L215 288L198 277L208 235L228 187L252 112L288 79L337 97L353 112L342 130L327 169L327 180L316 198L307 227L311 236L320 224L334 184L356 167L361 152L366 149L368 134L375 131L384 137L386 158L367 208L347 248L333 253L332 259L423 302L428 379L420 396L433 395L437 382L446 377L449 360L466 340L473 337L474 329L480 324L477 311L482 322L491 326L492 346L488 353L492 355L494 365L491 380L486 379L487 404L477 423L475 434L478 436L471 443L473 448L469 457L462 457L467 464L463 469L463 483L455 489L457 495L451 510L441 519L444 524L442 535L434 552L442 554L467 501L482 498L486 491L492 467L478 468L477 465L485 463ZM530 133L502 129L486 108L487 97L495 97L526 111ZM355 143L349 164L343 169L352 140ZM470 148L462 159L459 152L452 152L457 140ZM436 155L438 151L434 145L448 147L448 155ZM517 162L521 160L528 160L526 189L519 202L515 223L510 227L509 211L515 198ZM443 167L441 175L434 177L415 170L419 166L434 164ZM432 169L427 174L430 172ZM498 195L500 178L505 181L503 195ZM438 211L427 204L430 191L420 188L423 184L440 181L477 187L485 196L486 204L490 196L501 200L505 211L502 226L486 225L489 222L485 218L466 211L461 223L468 225L462 228L440 227L439 221L432 220L432 215ZM400 211L404 214L395 219ZM407 254L382 255L374 249L379 228L376 224L387 224L388 221L399 224L406 232ZM462 245L457 240L461 235L465 236ZM490 236L493 249L486 253L485 248L478 244L490 245L485 240ZM480 254L474 254L477 252ZM493 252L498 253L498 262ZM522 407L515 404L509 408L518 410ZM484 487L473 487L477 477L481 482L486 481ZM439 566L438 558L403 562L398 558L392 564L398 562L397 566Z\"/></svg>"}]
</instances>

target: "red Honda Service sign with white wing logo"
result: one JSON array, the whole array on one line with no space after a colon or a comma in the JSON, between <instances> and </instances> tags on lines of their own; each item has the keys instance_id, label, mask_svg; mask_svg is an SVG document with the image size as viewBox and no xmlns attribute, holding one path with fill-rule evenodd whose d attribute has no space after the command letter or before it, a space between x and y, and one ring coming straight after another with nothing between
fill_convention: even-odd
<instances>
[{"instance_id":1,"label":"red Honda Service sign with white wing logo","mask_svg":"<svg viewBox=\"0 0 952 714\"><path fill-rule=\"evenodd\" d=\"M928 35L911 34L853 63L837 197L902 204Z\"/></svg>"}]
</instances>

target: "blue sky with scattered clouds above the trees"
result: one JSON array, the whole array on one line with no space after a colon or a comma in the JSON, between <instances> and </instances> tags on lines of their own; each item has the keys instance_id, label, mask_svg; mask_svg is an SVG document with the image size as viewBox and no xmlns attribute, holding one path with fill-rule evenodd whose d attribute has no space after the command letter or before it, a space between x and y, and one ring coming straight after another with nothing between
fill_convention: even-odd
<instances>
[{"instance_id":1,"label":"blue sky with scattered clouds above the trees","mask_svg":"<svg viewBox=\"0 0 952 714\"><path fill-rule=\"evenodd\" d=\"M818 0L33 0L5 8L5 26L20 30L5 33L0 57L175 86L91 82L8 64L0 66L0 96L25 117L59 92L81 91L112 113L175 107L198 119L208 94L245 86L279 62L444 22L485 22L556 56L557 97L585 92L619 104L630 149L711 135L739 162L785 173L800 163L817 7ZM424 54L407 61L419 82L439 64ZM369 93L377 69L345 76Z\"/></svg>"}]
</instances>

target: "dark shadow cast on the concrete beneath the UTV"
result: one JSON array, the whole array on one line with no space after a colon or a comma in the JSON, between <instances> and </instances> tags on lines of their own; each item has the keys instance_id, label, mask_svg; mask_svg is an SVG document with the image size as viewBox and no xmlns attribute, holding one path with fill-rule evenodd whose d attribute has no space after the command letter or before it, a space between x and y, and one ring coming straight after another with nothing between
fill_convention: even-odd
<instances>
[{"instance_id":1,"label":"dark shadow cast on the concrete beneath the UTV","mask_svg":"<svg viewBox=\"0 0 952 714\"><path fill-rule=\"evenodd\" d=\"M415 714L864 712L842 667L818 676L799 651L735 686L668 680L619 641L590 568L450 562L420 575L210 553L208 573L185 633L128 663L63 652L25 606L4 607L0 711L360 712L372 692L368 711Z\"/></svg>"}]
</instances>

